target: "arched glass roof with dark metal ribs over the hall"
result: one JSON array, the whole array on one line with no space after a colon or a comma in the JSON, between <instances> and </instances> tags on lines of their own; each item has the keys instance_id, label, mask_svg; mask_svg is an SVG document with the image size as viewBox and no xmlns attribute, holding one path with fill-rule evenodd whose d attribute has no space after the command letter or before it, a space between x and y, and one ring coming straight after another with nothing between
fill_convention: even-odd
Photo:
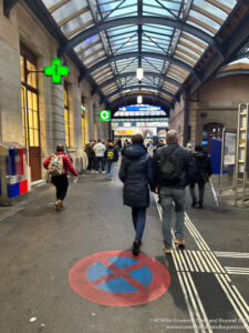
<instances>
[{"instance_id":1,"label":"arched glass roof with dark metal ribs over the hall","mask_svg":"<svg viewBox=\"0 0 249 333\"><path fill-rule=\"evenodd\" d=\"M174 98L236 0L42 0L110 103ZM93 29L93 28L96 29ZM144 79L136 79L136 68Z\"/></svg>"}]
</instances>

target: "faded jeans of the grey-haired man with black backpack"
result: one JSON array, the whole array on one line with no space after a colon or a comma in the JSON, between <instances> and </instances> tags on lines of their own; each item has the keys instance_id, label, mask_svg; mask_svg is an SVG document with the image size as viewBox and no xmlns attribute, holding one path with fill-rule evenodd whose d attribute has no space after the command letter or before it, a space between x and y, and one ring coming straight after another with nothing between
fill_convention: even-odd
<instances>
[{"instance_id":1,"label":"faded jeans of the grey-haired man with black backpack","mask_svg":"<svg viewBox=\"0 0 249 333\"><path fill-rule=\"evenodd\" d=\"M167 249L172 249L172 210L175 203L176 212L176 231L175 238L184 240L184 221L185 221L185 190L160 188L159 189L160 205L163 209L163 235L164 243Z\"/></svg>"}]
</instances>

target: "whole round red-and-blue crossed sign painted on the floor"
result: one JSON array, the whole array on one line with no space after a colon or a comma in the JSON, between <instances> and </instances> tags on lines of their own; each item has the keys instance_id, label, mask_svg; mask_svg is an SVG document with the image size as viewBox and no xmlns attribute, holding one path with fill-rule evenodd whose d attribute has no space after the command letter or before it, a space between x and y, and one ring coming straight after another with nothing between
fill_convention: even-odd
<instances>
[{"instance_id":1,"label":"whole round red-and-blue crossed sign painted on the floor","mask_svg":"<svg viewBox=\"0 0 249 333\"><path fill-rule=\"evenodd\" d=\"M132 306L152 302L169 287L168 270L154 258L131 251L105 251L79 261L69 283L80 296L107 306Z\"/></svg>"}]
</instances>

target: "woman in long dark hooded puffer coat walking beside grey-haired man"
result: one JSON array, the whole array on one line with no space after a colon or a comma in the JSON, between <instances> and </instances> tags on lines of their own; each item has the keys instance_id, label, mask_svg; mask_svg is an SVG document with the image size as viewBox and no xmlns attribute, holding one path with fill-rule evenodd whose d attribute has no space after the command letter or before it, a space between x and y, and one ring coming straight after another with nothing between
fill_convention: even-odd
<instances>
[{"instance_id":1,"label":"woman in long dark hooded puffer coat walking beside grey-haired man","mask_svg":"<svg viewBox=\"0 0 249 333\"><path fill-rule=\"evenodd\" d=\"M124 183L124 204L132 208L133 224L136 238L133 254L139 253L146 220L146 208L149 206L149 189L154 191L152 159L143 145L141 134L132 137L132 145L126 148L121 163L120 179Z\"/></svg>"}]
</instances>

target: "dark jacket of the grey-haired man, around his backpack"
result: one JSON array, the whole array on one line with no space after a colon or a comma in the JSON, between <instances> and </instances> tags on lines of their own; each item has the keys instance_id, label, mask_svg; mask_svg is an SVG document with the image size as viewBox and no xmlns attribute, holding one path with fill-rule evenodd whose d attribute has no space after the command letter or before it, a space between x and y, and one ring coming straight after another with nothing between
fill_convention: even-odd
<instances>
[{"instance_id":1,"label":"dark jacket of the grey-haired man, around his backpack","mask_svg":"<svg viewBox=\"0 0 249 333\"><path fill-rule=\"evenodd\" d=\"M173 158L176 160L177 170L179 173L179 181L177 181L175 184L168 184L167 181L165 181L160 169L163 154L170 154L170 152ZM195 161L189 150L178 145L177 143L169 143L168 145L156 151L155 155L153 157L153 171L156 186L184 189L191 182L195 175Z\"/></svg>"}]
</instances>

